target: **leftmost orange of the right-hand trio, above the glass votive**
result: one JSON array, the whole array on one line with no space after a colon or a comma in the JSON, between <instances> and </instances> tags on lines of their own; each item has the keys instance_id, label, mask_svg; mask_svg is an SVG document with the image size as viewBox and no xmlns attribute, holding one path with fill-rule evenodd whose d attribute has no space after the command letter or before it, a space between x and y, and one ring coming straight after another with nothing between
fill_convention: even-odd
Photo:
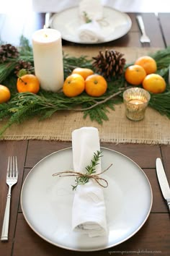
<instances>
[{"instance_id":1,"label":"leftmost orange of the right-hand trio, above the glass votive","mask_svg":"<svg viewBox=\"0 0 170 256\"><path fill-rule=\"evenodd\" d=\"M146 77L146 71L139 65L131 65L125 70L125 80L131 85L140 85Z\"/></svg>"}]
</instances>

